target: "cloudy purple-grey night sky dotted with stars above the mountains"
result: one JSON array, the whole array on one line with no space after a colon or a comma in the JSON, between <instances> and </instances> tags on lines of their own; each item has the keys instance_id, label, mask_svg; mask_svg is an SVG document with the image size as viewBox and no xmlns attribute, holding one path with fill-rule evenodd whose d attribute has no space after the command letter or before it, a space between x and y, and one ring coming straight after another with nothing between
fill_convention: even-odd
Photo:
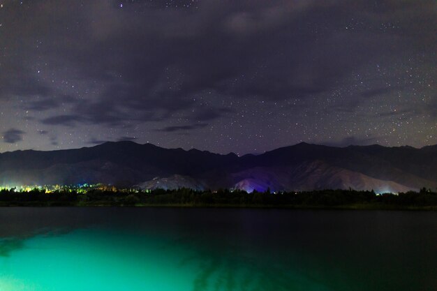
<instances>
[{"instance_id":1,"label":"cloudy purple-grey night sky dotted with stars above the mountains","mask_svg":"<svg viewBox=\"0 0 437 291\"><path fill-rule=\"evenodd\" d=\"M437 144L435 0L0 0L0 152Z\"/></svg>"}]
</instances>

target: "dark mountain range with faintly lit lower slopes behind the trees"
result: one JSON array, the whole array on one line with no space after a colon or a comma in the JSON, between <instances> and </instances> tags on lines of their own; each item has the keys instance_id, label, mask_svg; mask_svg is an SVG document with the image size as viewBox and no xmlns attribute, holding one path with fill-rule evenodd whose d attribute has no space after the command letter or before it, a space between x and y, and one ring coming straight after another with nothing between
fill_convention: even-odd
<instances>
[{"instance_id":1,"label":"dark mountain range with faintly lit lower slopes behind the trees","mask_svg":"<svg viewBox=\"0 0 437 291\"><path fill-rule=\"evenodd\" d=\"M111 184L140 188L238 188L383 192L437 188L437 145L328 147L304 142L237 156L153 144L105 142L95 147L0 154L0 185Z\"/></svg>"}]
</instances>

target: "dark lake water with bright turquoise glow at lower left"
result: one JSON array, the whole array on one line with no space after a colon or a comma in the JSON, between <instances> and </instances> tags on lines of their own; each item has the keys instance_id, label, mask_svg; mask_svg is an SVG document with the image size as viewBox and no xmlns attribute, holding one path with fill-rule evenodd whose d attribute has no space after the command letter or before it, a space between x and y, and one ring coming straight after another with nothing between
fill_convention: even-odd
<instances>
[{"instance_id":1,"label":"dark lake water with bright turquoise glow at lower left","mask_svg":"<svg viewBox=\"0 0 437 291\"><path fill-rule=\"evenodd\" d=\"M0 291L437 290L437 213L0 208Z\"/></svg>"}]
</instances>

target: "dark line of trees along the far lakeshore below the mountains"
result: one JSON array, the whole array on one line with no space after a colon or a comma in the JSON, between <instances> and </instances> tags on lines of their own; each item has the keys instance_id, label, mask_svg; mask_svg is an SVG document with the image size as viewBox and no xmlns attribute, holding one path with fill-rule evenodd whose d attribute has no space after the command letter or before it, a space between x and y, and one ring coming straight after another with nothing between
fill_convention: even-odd
<instances>
[{"instance_id":1,"label":"dark line of trees along the far lakeshore below the mountains","mask_svg":"<svg viewBox=\"0 0 437 291\"><path fill-rule=\"evenodd\" d=\"M327 207L327 208L427 208L437 209L437 193L426 188L406 193L376 194L373 191L320 190L303 192L152 191L90 189L83 191L44 189L0 191L0 206L186 206L186 207Z\"/></svg>"}]
</instances>

